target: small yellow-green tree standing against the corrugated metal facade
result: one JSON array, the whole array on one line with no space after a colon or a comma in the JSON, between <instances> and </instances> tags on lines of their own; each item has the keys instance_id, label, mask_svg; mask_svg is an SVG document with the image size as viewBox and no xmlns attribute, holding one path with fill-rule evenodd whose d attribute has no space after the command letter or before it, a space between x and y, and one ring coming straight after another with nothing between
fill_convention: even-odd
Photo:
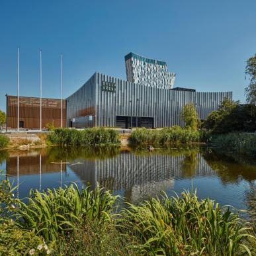
<instances>
[{"instance_id":1,"label":"small yellow-green tree standing against the corrugated metal facade","mask_svg":"<svg viewBox=\"0 0 256 256\"><path fill-rule=\"evenodd\" d=\"M186 123L186 126L192 130L197 130L199 119L196 109L194 108L194 103L189 103L183 107L181 110L181 120Z\"/></svg>"}]
</instances>

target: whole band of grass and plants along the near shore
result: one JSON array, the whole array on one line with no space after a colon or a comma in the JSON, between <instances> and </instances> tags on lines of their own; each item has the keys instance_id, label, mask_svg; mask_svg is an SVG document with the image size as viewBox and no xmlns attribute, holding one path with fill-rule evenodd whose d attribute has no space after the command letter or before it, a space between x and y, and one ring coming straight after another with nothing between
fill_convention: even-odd
<instances>
[{"instance_id":1,"label":"whole band of grass and plants along the near shore","mask_svg":"<svg viewBox=\"0 0 256 256\"><path fill-rule=\"evenodd\" d=\"M116 196L99 188L32 191L26 204L12 193L2 182L2 255L253 254L249 225L196 193L128 204L118 214Z\"/></svg>"}]
</instances>

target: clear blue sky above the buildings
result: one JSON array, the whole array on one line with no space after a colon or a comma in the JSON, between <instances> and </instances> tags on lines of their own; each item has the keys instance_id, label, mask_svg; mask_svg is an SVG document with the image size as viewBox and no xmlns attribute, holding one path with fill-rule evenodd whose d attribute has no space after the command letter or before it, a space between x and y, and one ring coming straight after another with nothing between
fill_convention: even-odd
<instances>
[{"instance_id":1,"label":"clear blue sky above the buildings","mask_svg":"<svg viewBox=\"0 0 256 256\"><path fill-rule=\"evenodd\" d=\"M167 62L176 87L234 91L245 101L245 61L256 53L255 0L24 0L0 1L0 109L17 94L64 97L95 71L126 79L124 55L136 52Z\"/></svg>"}]
</instances>

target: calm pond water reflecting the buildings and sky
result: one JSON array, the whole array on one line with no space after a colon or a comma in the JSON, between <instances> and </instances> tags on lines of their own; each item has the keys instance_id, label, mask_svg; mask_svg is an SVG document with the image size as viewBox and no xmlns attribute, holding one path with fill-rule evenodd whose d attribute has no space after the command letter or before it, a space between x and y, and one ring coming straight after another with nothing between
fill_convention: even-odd
<instances>
[{"instance_id":1,"label":"calm pond water reflecting the buildings and sky","mask_svg":"<svg viewBox=\"0 0 256 256\"><path fill-rule=\"evenodd\" d=\"M19 185L17 196L30 189L97 183L130 202L166 191L172 195L196 188L200 198L210 197L237 209L255 210L256 163L235 160L212 148L92 149L50 148L0 151L3 175ZM252 216L255 212L252 212Z\"/></svg>"}]
</instances>

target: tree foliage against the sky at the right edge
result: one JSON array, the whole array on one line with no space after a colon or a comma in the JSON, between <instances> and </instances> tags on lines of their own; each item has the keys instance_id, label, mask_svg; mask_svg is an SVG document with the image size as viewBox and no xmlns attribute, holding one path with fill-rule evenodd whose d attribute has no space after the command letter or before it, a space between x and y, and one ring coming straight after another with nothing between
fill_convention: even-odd
<instances>
[{"instance_id":1,"label":"tree foliage against the sky at the right edge","mask_svg":"<svg viewBox=\"0 0 256 256\"><path fill-rule=\"evenodd\" d=\"M245 88L247 103L256 105L256 54L247 60L245 74L249 75L249 85Z\"/></svg>"}]
</instances>

